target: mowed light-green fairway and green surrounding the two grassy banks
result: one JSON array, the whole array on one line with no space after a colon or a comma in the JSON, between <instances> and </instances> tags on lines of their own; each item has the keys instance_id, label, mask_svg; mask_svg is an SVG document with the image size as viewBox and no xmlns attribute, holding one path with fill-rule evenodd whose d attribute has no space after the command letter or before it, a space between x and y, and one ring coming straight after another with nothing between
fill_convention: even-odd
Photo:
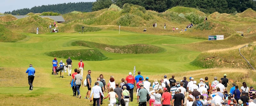
<instances>
[{"instance_id":1,"label":"mowed light-green fairway and green surrounding the two grassy banks","mask_svg":"<svg viewBox=\"0 0 256 106\"><path fill-rule=\"evenodd\" d=\"M47 33L36 35L28 33L26 35L28 37L19 42L0 42L0 99L2 101L0 105L92 105L92 102L83 99L87 88L81 88L82 99L77 99L72 96L72 89L69 85L71 77L67 73L64 74L64 78L51 74L54 57L46 55L46 53L53 51L89 49L84 46L72 46L71 43L77 40L117 46L149 44L164 48L161 53L151 54L118 54L100 50L108 59L83 61L85 64L83 77L86 77L88 69L92 70L92 83L100 74L104 75L106 82L108 82L109 76L113 75L116 82L120 83L121 78L125 78L129 72L133 72L134 66L136 66L136 74L137 71L141 71L144 77L148 76L152 81L161 79L155 78L156 75L164 76L164 74L201 69L189 64L200 52L190 51L190 49L180 45L205 41L203 39L123 31L118 34L117 30L87 32L85 34ZM66 59L57 58L57 60L66 62ZM79 61L72 61L73 73ZM25 73L29 64L33 64L33 67L36 68L33 91L28 90L28 79ZM134 97L134 99L136 98ZM107 99L104 100L102 106L108 106L107 101ZM134 100L134 102L130 102L130 105L138 104Z\"/></svg>"}]
</instances>

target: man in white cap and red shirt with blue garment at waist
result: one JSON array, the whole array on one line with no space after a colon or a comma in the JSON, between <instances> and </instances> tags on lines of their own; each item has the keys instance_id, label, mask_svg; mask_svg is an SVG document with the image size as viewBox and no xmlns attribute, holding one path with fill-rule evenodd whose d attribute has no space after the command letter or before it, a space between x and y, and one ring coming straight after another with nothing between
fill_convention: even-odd
<instances>
[{"instance_id":1,"label":"man in white cap and red shirt with blue garment at waist","mask_svg":"<svg viewBox=\"0 0 256 106\"><path fill-rule=\"evenodd\" d=\"M132 102L133 88L134 88L134 83L136 82L134 77L132 76L132 72L129 72L129 76L127 76L125 80L127 81L127 85L129 85L129 87L130 87L130 97L131 97L131 102Z\"/></svg>"}]
</instances>

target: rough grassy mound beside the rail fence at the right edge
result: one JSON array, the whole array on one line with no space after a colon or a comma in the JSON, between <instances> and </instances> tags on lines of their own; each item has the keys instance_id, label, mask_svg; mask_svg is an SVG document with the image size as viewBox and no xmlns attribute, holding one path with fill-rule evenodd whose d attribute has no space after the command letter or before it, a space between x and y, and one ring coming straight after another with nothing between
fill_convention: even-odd
<instances>
[{"instance_id":1,"label":"rough grassy mound beside the rail fence at the right edge","mask_svg":"<svg viewBox=\"0 0 256 106\"><path fill-rule=\"evenodd\" d=\"M256 47L242 48L241 54L250 62L252 66L255 66L255 49ZM240 56L238 49L213 52L213 53L201 53L191 64L205 67L205 68L244 68L251 69L247 62Z\"/></svg>"}]
</instances>

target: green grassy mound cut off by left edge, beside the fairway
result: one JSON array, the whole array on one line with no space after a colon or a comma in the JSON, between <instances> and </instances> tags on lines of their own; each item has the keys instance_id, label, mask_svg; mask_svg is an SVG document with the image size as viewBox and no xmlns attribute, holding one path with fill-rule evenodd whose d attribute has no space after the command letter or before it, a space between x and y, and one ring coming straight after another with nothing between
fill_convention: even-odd
<instances>
[{"instance_id":1,"label":"green grassy mound cut off by left edge, beside the fairway","mask_svg":"<svg viewBox=\"0 0 256 106\"><path fill-rule=\"evenodd\" d=\"M0 42L16 42L21 39L25 39L26 35L13 33L0 24Z\"/></svg>"}]
</instances>

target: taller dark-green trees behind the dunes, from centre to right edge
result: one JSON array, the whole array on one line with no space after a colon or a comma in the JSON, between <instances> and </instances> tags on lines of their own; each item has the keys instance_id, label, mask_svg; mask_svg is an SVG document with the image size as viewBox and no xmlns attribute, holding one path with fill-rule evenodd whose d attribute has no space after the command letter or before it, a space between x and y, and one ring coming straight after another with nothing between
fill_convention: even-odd
<instances>
[{"instance_id":1,"label":"taller dark-green trees behind the dunes, from centre to right edge","mask_svg":"<svg viewBox=\"0 0 256 106\"><path fill-rule=\"evenodd\" d=\"M122 8L126 3L140 5L146 10L157 12L164 12L176 6L196 8L210 14L216 11L219 13L243 12L248 8L256 10L254 0L97 0L92 3L92 11L108 8L111 4Z\"/></svg>"}]
</instances>

